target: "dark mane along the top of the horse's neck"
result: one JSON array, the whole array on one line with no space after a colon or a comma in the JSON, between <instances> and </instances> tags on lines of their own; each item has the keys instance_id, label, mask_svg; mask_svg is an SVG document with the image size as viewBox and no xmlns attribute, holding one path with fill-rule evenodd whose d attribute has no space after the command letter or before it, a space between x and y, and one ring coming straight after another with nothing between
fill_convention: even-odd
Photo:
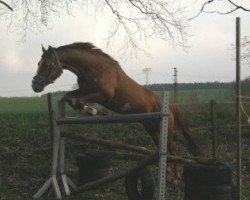
<instances>
[{"instance_id":1,"label":"dark mane along the top of the horse's neck","mask_svg":"<svg viewBox=\"0 0 250 200\"><path fill-rule=\"evenodd\" d=\"M103 55L103 56L117 62L110 55L104 53L101 49L97 48L95 45L93 45L90 42L76 42L76 43L72 43L72 44L58 47L57 49L58 50L77 49L77 50L82 50L82 51L88 51L88 52L91 52L94 54Z\"/></svg>"}]
</instances>

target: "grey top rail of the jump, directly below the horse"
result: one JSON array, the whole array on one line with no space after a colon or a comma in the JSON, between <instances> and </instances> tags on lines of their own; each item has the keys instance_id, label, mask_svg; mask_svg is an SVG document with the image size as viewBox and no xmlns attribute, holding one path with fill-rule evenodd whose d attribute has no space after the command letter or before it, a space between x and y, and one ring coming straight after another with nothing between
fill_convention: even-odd
<instances>
[{"instance_id":1,"label":"grey top rail of the jump, directly below the horse","mask_svg":"<svg viewBox=\"0 0 250 200\"><path fill-rule=\"evenodd\" d=\"M111 115L111 116L89 116L89 117L66 117L58 119L58 125L63 124L105 124L105 123L138 123L149 121L160 121L162 114L160 112L154 113L140 113L127 115Z\"/></svg>"}]
</instances>

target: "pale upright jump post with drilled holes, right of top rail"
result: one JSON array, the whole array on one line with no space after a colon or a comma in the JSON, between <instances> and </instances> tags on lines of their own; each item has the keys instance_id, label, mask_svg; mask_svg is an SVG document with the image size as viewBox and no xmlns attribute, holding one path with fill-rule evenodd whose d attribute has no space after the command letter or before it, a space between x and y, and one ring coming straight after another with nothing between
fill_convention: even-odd
<instances>
[{"instance_id":1,"label":"pale upright jump post with drilled holes, right of top rail","mask_svg":"<svg viewBox=\"0 0 250 200\"><path fill-rule=\"evenodd\" d=\"M158 200L166 200L166 165L167 165L167 143L168 143L168 93L163 93L161 106L162 120L159 141L159 189Z\"/></svg>"}]
</instances>

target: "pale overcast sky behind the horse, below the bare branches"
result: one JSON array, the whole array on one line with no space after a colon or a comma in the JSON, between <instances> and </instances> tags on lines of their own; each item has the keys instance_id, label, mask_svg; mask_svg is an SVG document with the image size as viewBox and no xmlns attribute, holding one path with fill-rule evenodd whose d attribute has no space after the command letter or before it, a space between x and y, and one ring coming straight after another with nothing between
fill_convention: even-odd
<instances>
[{"instance_id":1,"label":"pale overcast sky behind the horse, below the bare branches","mask_svg":"<svg viewBox=\"0 0 250 200\"><path fill-rule=\"evenodd\" d=\"M244 0L242 0L244 2ZM250 3L248 3L250 8ZM145 83L143 68L151 68L150 83L172 83L173 68L178 69L178 82L234 81L235 18L241 17L241 34L250 36L250 13L237 12L221 16L202 14L189 24L187 29L189 48L175 48L160 39L148 41L146 51L150 56L139 53L137 57L124 57L115 44L106 47L110 21L109 17L93 17L77 12L73 16L54 17L50 29L42 32L28 32L25 42L18 42L20 35L7 31L0 21L0 96L37 95L31 89L37 63L40 60L41 44L58 47L73 42L92 42L116 59L124 71L140 84ZM250 40L250 37L248 38ZM250 76L250 66L242 65L242 78ZM76 77L70 72L63 75L48 91L71 89Z\"/></svg>"}]
</instances>

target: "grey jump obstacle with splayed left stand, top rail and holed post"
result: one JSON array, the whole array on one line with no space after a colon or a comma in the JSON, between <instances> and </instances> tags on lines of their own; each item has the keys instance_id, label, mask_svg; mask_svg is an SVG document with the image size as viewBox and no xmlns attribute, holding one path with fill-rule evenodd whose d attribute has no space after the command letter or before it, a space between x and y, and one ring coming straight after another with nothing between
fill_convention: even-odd
<instances>
[{"instance_id":1,"label":"grey jump obstacle with splayed left stand, top rail and holed post","mask_svg":"<svg viewBox=\"0 0 250 200\"><path fill-rule=\"evenodd\" d=\"M138 170L156 160L159 160L158 172L158 197L157 200L165 200L166 196L166 164L167 164L167 135L168 135L168 92L163 93L161 112L142 113L142 114L127 114L116 116L91 116L91 117L66 117L65 116L65 102L58 101L57 115L53 119L53 152L51 174L43 186L33 196L38 199L52 186L57 199L62 199L61 189L58 184L60 178L63 184L64 192L69 196L72 192L77 192L83 189L85 185L77 188L73 181L65 173L65 136L63 136L63 125L67 124L105 124L105 123L138 123L147 121L159 121L160 123L160 138L159 138L159 152L150 154L145 159L140 161L133 169L126 171L123 174L117 174L116 179L124 177L131 171ZM187 161L188 162L188 161ZM59 176L58 176L59 175ZM114 178L113 178L114 179ZM109 180L109 179L108 179ZM100 182L107 182L107 179L102 179ZM98 184L97 184L98 185ZM70 190L72 188L72 191Z\"/></svg>"}]
</instances>

